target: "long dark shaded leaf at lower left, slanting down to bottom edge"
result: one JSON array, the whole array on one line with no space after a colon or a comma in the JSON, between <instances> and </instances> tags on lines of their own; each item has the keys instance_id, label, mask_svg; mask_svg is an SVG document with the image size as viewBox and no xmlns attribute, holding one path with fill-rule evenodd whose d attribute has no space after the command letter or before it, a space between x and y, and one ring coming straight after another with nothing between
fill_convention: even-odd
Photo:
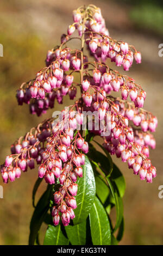
<instances>
[{"instance_id":1,"label":"long dark shaded leaf at lower left, slanting down to bottom edge","mask_svg":"<svg viewBox=\"0 0 163 256\"><path fill-rule=\"evenodd\" d=\"M52 186L48 185L47 190L42 194L39 202L34 210L32 220L30 222L30 235L29 235L29 245L34 245L37 234L41 227L43 220L49 209L49 200L51 197Z\"/></svg>"}]
</instances>

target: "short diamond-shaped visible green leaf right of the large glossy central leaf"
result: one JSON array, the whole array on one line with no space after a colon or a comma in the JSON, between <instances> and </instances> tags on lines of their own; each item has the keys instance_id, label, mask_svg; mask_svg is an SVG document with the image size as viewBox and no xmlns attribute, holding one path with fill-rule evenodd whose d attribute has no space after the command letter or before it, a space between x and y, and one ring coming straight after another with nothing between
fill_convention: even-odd
<instances>
[{"instance_id":1,"label":"short diamond-shaped visible green leaf right of the large glossy central leaf","mask_svg":"<svg viewBox=\"0 0 163 256\"><path fill-rule=\"evenodd\" d=\"M102 204L104 204L110 193L109 187L101 180L101 178L99 178L99 176L95 176L95 181L96 194L101 200Z\"/></svg>"}]
</instances>

